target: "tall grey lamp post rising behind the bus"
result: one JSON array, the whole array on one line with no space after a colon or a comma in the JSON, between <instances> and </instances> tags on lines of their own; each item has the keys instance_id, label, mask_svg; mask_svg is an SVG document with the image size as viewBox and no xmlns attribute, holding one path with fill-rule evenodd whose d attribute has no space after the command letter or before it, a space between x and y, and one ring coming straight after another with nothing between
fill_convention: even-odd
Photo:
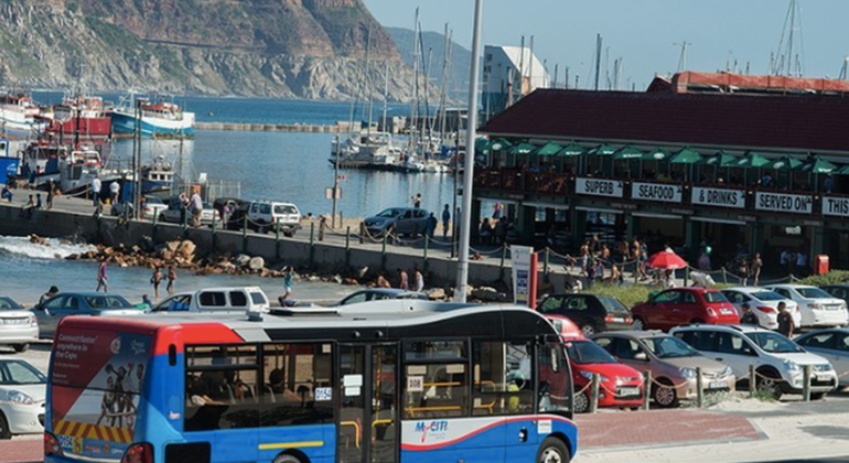
<instances>
[{"instance_id":1,"label":"tall grey lamp post rising behind the bus","mask_svg":"<svg viewBox=\"0 0 849 463\"><path fill-rule=\"evenodd\" d=\"M483 0L475 0L474 35L472 39L472 72L469 84L469 123L463 159L463 213L460 226L460 249L456 261L456 289L454 301L465 302L469 286L469 243L472 222L472 180L474 176L474 141L477 136L477 79L481 74L481 31L483 29ZM458 157L459 159L459 157Z\"/></svg>"}]
</instances>

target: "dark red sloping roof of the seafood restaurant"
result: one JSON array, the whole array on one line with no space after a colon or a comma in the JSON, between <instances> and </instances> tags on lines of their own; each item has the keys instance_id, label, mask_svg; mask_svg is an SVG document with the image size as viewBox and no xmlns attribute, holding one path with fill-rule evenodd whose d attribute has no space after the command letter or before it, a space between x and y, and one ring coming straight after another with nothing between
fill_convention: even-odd
<instances>
[{"instance_id":1,"label":"dark red sloping roof of the seafood restaurant","mask_svg":"<svg viewBox=\"0 0 849 463\"><path fill-rule=\"evenodd\" d=\"M481 132L849 154L848 121L849 97L538 89Z\"/></svg>"}]
</instances>

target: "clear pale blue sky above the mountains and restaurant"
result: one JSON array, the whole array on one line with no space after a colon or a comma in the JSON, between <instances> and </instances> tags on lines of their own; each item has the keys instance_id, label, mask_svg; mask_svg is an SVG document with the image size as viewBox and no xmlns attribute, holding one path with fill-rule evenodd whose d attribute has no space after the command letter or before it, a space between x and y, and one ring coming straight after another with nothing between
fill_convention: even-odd
<instances>
[{"instance_id":1,"label":"clear pale blue sky above the mountains and restaurant","mask_svg":"<svg viewBox=\"0 0 849 463\"><path fill-rule=\"evenodd\" d=\"M364 0L384 25L412 29L416 7L426 31L449 22L454 39L471 49L474 0ZM849 1L798 0L800 26L793 55L808 77L836 78L849 55ZM534 51L548 61L569 66L584 87L593 80L595 35L612 72L622 58L623 86L645 88L655 74L678 69L681 43L688 42L687 68L717 72L737 62L738 72L767 74L771 53L778 44L789 0L484 0L483 43L519 45L522 35L534 39ZM789 28L788 28L789 29ZM786 53L787 39L784 40ZM602 64L603 66L603 64ZM604 71L602 71L604 75Z\"/></svg>"}]
</instances>

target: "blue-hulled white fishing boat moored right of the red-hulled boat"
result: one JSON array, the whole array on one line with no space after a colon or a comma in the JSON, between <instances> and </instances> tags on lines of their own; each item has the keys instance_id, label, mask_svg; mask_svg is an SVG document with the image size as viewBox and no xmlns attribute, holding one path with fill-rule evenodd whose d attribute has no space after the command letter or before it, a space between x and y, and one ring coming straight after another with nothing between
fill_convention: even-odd
<instances>
[{"instance_id":1,"label":"blue-hulled white fishing boat moored right of the red-hulled boat","mask_svg":"<svg viewBox=\"0 0 849 463\"><path fill-rule=\"evenodd\" d=\"M194 112L186 112L180 106L170 101L141 100L138 120L133 98L123 98L111 112L112 131L116 136L132 137L137 127L142 137L193 137Z\"/></svg>"}]
</instances>

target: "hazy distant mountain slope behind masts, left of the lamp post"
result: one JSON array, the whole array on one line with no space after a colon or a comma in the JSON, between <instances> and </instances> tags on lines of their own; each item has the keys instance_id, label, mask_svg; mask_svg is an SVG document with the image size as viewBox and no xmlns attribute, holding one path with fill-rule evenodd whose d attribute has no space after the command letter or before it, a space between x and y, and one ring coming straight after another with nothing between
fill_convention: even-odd
<instances>
[{"instance_id":1,"label":"hazy distant mountain slope behind masts, left of the lamp post","mask_svg":"<svg viewBox=\"0 0 849 463\"><path fill-rule=\"evenodd\" d=\"M416 34L404 28L385 28L398 46L398 51L408 67L412 67ZM439 88L442 79L442 64L445 60L445 35L439 32L423 32L421 34L423 60L428 62L428 50L433 51L430 60L431 83ZM469 71L472 66L472 52L462 47L456 42L451 43L451 62L449 63L448 84L445 86L449 97L454 101L463 101L469 95Z\"/></svg>"}]
</instances>

